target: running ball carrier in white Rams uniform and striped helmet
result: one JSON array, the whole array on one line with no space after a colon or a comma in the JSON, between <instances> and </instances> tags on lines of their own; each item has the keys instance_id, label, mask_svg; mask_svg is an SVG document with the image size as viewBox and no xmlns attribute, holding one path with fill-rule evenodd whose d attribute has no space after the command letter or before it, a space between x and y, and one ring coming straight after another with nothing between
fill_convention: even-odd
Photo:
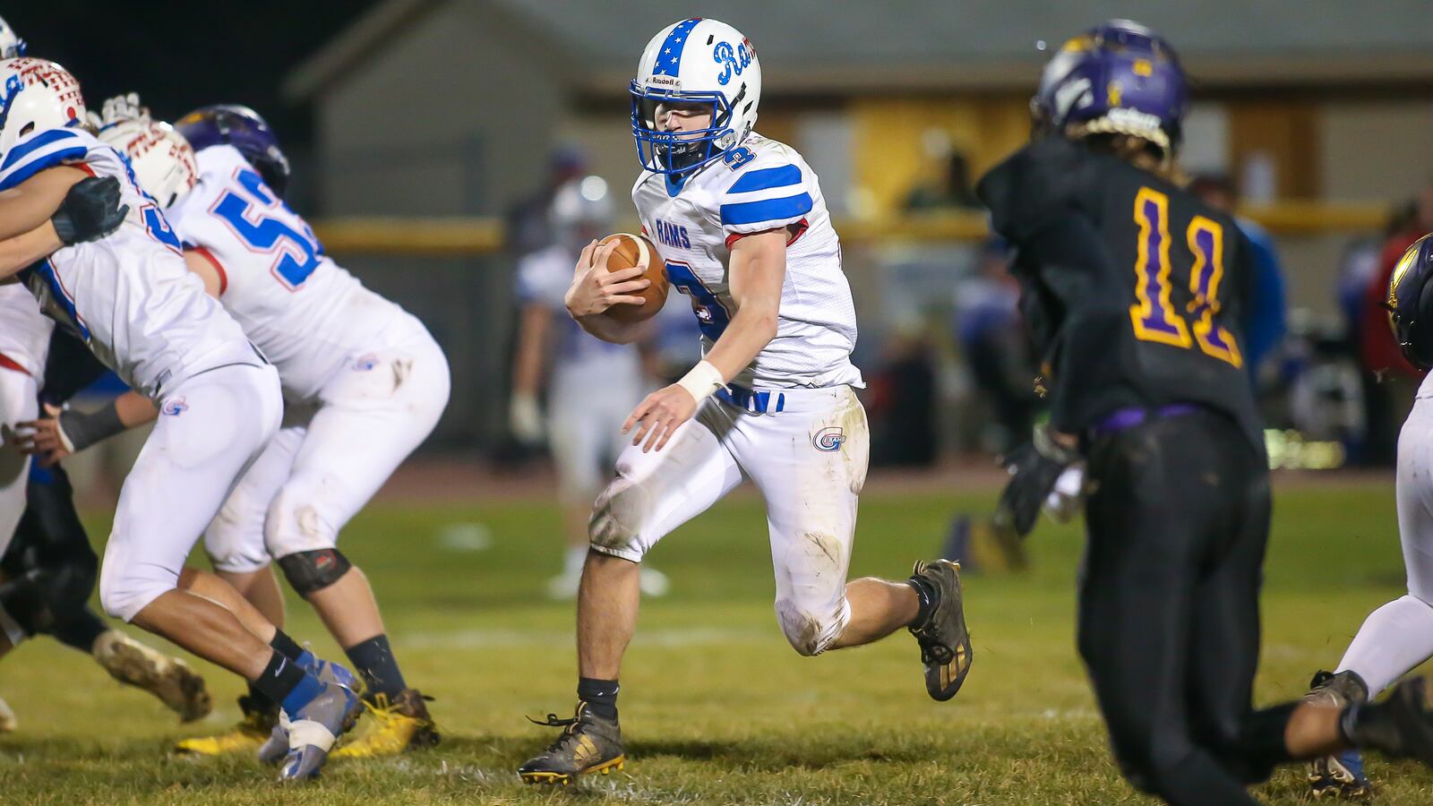
<instances>
[{"instance_id":1,"label":"running ball carrier in white Rams uniform and striped helmet","mask_svg":"<svg viewBox=\"0 0 1433 806\"><path fill-rule=\"evenodd\" d=\"M868 453L850 360L856 310L815 175L752 132L761 67L751 42L716 20L668 26L631 92L643 168L632 199L672 285L691 297L705 359L623 426L633 440L593 505L577 594L577 710L549 719L565 730L517 770L527 783L622 767L618 671L636 628L639 564L744 478L767 502L777 618L797 653L909 627L931 697L953 697L970 668L956 564L917 562L906 582L845 582ZM641 267L606 271L613 248L583 251L567 310L620 343L636 328L599 314L641 301L631 291L646 281L635 280Z\"/></svg>"}]
</instances>

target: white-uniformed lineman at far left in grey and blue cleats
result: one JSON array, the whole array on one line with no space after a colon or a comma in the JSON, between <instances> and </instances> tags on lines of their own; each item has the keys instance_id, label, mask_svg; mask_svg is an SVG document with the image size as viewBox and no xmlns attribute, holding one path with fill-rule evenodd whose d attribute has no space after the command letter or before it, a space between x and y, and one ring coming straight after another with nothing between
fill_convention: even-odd
<instances>
[{"instance_id":1,"label":"white-uniformed lineman at far left in grey and blue cleats","mask_svg":"<svg viewBox=\"0 0 1433 806\"><path fill-rule=\"evenodd\" d=\"M122 214L96 241L62 232L67 245L23 271L0 267L0 280L20 274L47 316L163 414L120 489L100 601L281 701L292 733L279 777L311 777L361 711L353 675L305 653L222 579L183 566L278 427L278 373L203 294L163 214L83 120L79 82L63 67L0 62L0 240L63 212L87 178L115 192Z\"/></svg>"}]
</instances>

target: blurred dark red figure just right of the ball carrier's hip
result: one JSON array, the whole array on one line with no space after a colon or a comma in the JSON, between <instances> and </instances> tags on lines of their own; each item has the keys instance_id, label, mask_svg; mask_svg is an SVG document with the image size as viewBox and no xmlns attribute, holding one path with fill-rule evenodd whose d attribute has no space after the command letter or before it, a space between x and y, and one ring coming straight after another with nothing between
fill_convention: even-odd
<instances>
[{"instance_id":1,"label":"blurred dark red figure just right of the ball carrier's hip","mask_svg":"<svg viewBox=\"0 0 1433 806\"><path fill-rule=\"evenodd\" d=\"M919 327L886 341L881 369L866 396L871 423L871 465L927 468L940 455L936 426L936 361Z\"/></svg>"}]
</instances>

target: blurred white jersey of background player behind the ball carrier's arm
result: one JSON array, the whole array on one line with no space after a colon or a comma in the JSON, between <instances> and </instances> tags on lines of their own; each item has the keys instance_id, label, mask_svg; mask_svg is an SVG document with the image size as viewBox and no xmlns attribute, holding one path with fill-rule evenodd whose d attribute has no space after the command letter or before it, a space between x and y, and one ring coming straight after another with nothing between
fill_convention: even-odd
<instances>
[{"instance_id":1,"label":"blurred white jersey of background player behind the ball carrier's arm","mask_svg":"<svg viewBox=\"0 0 1433 806\"><path fill-rule=\"evenodd\" d=\"M565 297L572 285L577 255L552 245L517 261L517 298L553 311L552 373L555 380L592 383L592 393L606 386L631 389L641 383L642 364L632 344L612 344L582 330L570 316Z\"/></svg>"}]
</instances>

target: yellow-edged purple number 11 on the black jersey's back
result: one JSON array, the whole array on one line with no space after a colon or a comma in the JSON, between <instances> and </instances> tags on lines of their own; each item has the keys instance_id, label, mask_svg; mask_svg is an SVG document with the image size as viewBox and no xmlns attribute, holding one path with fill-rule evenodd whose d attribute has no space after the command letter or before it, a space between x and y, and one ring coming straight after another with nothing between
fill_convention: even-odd
<instances>
[{"instance_id":1,"label":"yellow-edged purple number 11 on the black jersey's back","mask_svg":"<svg viewBox=\"0 0 1433 806\"><path fill-rule=\"evenodd\" d=\"M1139 225L1139 247L1135 258L1135 298L1129 305L1129 320L1135 337L1174 347L1191 347L1195 341L1208 356L1244 366L1238 344L1214 317L1219 313L1219 281L1224 280L1224 227L1202 215L1195 215L1185 231L1194 268L1189 270L1189 304L1185 316L1169 301L1169 196L1151 188L1135 194L1135 224ZM1194 337L1189 337L1189 331Z\"/></svg>"}]
</instances>

